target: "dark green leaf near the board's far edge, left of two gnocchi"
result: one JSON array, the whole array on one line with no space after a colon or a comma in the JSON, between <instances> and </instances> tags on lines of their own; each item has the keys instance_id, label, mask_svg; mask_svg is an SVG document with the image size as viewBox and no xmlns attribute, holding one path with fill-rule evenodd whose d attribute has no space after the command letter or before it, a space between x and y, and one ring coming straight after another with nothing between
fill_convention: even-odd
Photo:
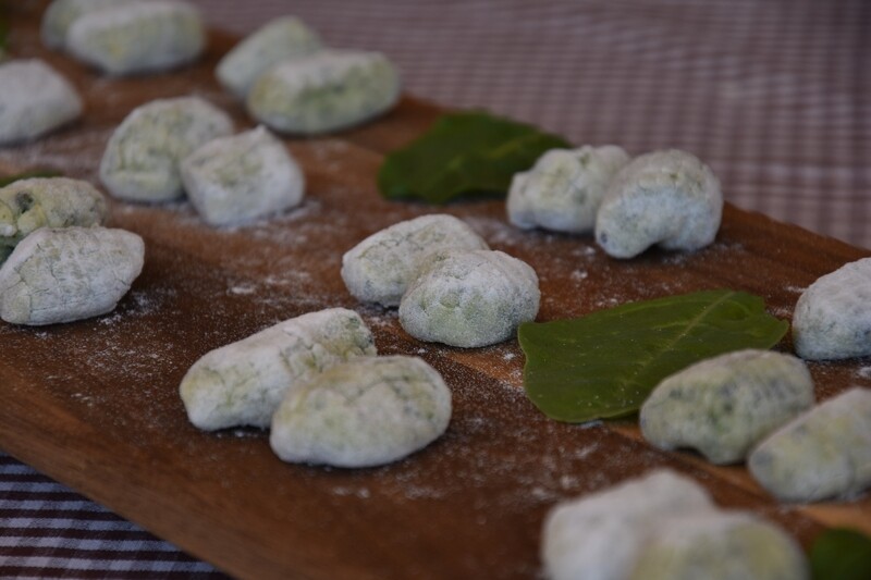
<instances>
[{"instance_id":1,"label":"dark green leaf near the board's far edge, left of two gnocchi","mask_svg":"<svg viewBox=\"0 0 871 580\"><path fill-rule=\"evenodd\" d=\"M406 147L387 156L378 187L388 199L445 203L459 196L504 195L515 173L550 149L569 147L556 135L489 113L439 118Z\"/></svg>"}]
</instances>

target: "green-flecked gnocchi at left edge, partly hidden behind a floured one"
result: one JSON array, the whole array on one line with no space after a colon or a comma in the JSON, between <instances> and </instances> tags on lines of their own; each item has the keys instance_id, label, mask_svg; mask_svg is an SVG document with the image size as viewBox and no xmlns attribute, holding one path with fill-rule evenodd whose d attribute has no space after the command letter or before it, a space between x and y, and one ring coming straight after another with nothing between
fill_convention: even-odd
<instances>
[{"instance_id":1,"label":"green-flecked gnocchi at left edge, partly hidden behind a floured one","mask_svg":"<svg viewBox=\"0 0 871 580\"><path fill-rule=\"evenodd\" d=\"M40 227L102 225L107 217L106 199L88 182L19 180L0 188L0 247L13 248Z\"/></svg>"}]
</instances>

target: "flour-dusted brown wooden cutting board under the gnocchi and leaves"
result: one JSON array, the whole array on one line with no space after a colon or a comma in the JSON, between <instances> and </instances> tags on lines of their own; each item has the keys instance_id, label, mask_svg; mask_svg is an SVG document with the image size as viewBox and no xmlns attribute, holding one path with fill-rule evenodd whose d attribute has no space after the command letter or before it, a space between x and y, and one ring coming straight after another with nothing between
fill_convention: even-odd
<instances>
[{"instance_id":1,"label":"flour-dusted brown wooden cutting board under the gnocchi and leaves","mask_svg":"<svg viewBox=\"0 0 871 580\"><path fill-rule=\"evenodd\" d=\"M195 66L111 79L39 46L38 4L12 10L13 53L62 71L87 112L44 140L0 149L2 172L49 166L98 185L111 131L159 97L199 95L229 111L240 129L252 126L212 78L234 42L228 35L213 33ZM772 313L789 319L808 284L867 250L727 206L716 242L703 251L616 261L589 236L512 227L499 200L445 208L382 200L375 175L384 151L439 113L407 97L359 129L286 139L305 168L307 198L250 226L209 227L185 202L112 202L113 224L146 239L145 270L110 314L46 328L0 323L0 448L246 578L535 577L542 518L554 503L654 467L696 478L720 505L757 511L805 545L824 526L871 532L868 495L782 506L745 468L657 451L634 421L551 421L524 395L516 341L468 350L420 343L402 331L395 310L356 303L339 275L342 254L365 236L444 211L536 269L541 321L714 287L761 295ZM444 437L390 466L344 470L283 464L263 432L203 433L187 422L177 385L197 358L335 306L361 313L380 353L418 355L443 373L455 404ZM789 350L789 340L780 348ZM810 368L821 399L871 387L867 358Z\"/></svg>"}]
</instances>

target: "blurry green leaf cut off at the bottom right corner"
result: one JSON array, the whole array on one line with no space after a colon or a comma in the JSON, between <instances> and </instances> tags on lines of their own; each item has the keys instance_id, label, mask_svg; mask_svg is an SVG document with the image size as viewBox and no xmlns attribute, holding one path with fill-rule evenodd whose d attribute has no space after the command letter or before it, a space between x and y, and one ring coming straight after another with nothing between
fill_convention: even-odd
<instances>
[{"instance_id":1,"label":"blurry green leaf cut off at the bottom right corner","mask_svg":"<svg viewBox=\"0 0 871 580\"><path fill-rule=\"evenodd\" d=\"M871 578L871 538L835 528L822 532L810 548L813 580L868 580Z\"/></svg>"}]
</instances>

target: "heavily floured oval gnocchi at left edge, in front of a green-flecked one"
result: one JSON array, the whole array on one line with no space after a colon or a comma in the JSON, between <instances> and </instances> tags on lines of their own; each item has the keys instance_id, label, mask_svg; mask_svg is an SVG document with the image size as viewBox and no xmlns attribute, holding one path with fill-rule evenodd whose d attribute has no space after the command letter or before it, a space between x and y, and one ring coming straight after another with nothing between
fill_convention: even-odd
<instances>
[{"instance_id":1,"label":"heavily floured oval gnocchi at left edge, in front of a green-flecked one","mask_svg":"<svg viewBox=\"0 0 871 580\"><path fill-rule=\"evenodd\" d=\"M0 268L0 318L53 324L114 309L139 275L143 238L106 227L42 227Z\"/></svg>"}]
</instances>

